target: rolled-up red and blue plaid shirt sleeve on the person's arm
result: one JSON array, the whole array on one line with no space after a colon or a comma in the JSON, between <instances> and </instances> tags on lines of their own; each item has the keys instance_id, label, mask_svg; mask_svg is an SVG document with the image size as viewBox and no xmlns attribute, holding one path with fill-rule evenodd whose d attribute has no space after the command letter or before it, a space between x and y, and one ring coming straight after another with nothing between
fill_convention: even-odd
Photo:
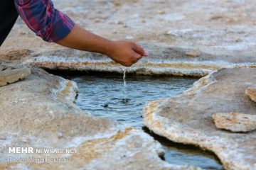
<instances>
[{"instance_id":1,"label":"rolled-up red and blue plaid shirt sleeve on the person's arm","mask_svg":"<svg viewBox=\"0 0 256 170\"><path fill-rule=\"evenodd\" d=\"M51 0L14 0L17 11L27 26L47 42L65 38L75 23L53 6Z\"/></svg>"}]
</instances>

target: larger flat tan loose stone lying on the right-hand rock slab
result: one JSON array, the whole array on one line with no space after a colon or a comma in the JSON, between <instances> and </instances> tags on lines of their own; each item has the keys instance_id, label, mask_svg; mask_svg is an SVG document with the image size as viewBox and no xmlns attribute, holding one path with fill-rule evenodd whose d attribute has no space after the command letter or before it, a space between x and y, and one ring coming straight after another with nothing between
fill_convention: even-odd
<instances>
[{"instance_id":1,"label":"larger flat tan loose stone lying on the right-hand rock slab","mask_svg":"<svg viewBox=\"0 0 256 170\"><path fill-rule=\"evenodd\" d=\"M232 132L250 132L256 129L256 115L244 113L215 113L213 120L217 128Z\"/></svg>"}]
</instances>

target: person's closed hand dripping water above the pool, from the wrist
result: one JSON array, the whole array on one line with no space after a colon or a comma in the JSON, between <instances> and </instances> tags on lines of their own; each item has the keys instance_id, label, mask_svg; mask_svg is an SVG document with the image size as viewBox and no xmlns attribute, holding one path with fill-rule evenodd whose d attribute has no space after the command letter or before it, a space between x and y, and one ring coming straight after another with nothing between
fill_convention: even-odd
<instances>
[{"instance_id":1,"label":"person's closed hand dripping water above the pool, from the wrist","mask_svg":"<svg viewBox=\"0 0 256 170\"><path fill-rule=\"evenodd\" d=\"M107 55L115 62L129 67L149 53L134 42L121 40L113 42L112 49Z\"/></svg>"}]
</instances>

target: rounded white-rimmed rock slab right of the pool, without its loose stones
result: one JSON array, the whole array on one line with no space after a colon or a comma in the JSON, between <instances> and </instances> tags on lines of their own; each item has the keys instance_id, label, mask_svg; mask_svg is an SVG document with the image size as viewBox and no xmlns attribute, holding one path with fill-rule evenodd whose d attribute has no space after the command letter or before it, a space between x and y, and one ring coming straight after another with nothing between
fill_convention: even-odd
<instances>
[{"instance_id":1,"label":"rounded white-rimmed rock slab right of the pool, without its loose stones","mask_svg":"<svg viewBox=\"0 0 256 170\"><path fill-rule=\"evenodd\" d=\"M143 123L169 140L214 152L225 169L256 169L256 131L218 130L212 120L214 113L233 112L255 118L255 102L245 95L245 89L253 84L256 69L220 69L181 96L146 105Z\"/></svg>"}]
</instances>

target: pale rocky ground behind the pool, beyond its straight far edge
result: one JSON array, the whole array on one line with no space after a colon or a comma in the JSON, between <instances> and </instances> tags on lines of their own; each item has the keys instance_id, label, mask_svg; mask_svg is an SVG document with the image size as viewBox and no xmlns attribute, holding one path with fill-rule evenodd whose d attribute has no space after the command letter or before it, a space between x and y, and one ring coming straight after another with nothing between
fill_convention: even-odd
<instances>
[{"instance_id":1,"label":"pale rocky ground behind the pool, beyond its straight far edge","mask_svg":"<svg viewBox=\"0 0 256 170\"><path fill-rule=\"evenodd\" d=\"M55 1L56 8L93 33L134 40L150 55L127 72L202 77L223 67L255 67L253 0ZM48 44L18 20L0 52L50 69L122 72L107 57Z\"/></svg>"}]
</instances>

